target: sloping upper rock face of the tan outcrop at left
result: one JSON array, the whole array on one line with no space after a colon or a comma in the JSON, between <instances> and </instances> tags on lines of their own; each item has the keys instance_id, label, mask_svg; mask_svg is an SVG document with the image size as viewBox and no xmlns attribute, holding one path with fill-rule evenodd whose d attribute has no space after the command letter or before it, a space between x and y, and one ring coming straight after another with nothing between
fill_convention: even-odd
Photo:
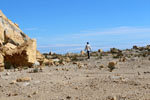
<instances>
[{"instance_id":1,"label":"sloping upper rock face of the tan outcrop at left","mask_svg":"<svg viewBox=\"0 0 150 100\"><path fill-rule=\"evenodd\" d=\"M10 21L3 13L0 11L0 40L3 43L12 43L14 45L21 45L26 40L30 38L25 35L22 30Z\"/></svg>"}]
</instances>

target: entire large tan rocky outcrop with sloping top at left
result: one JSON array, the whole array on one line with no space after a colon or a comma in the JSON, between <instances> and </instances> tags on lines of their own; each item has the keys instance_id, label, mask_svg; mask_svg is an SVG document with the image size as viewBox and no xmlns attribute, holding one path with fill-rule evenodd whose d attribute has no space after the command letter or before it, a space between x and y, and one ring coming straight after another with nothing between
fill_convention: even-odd
<instances>
[{"instance_id":1,"label":"entire large tan rocky outcrop with sloping top at left","mask_svg":"<svg viewBox=\"0 0 150 100\"><path fill-rule=\"evenodd\" d=\"M4 66L31 67L37 60L43 60L36 48L36 40L30 39L0 10L0 71Z\"/></svg>"}]
</instances>

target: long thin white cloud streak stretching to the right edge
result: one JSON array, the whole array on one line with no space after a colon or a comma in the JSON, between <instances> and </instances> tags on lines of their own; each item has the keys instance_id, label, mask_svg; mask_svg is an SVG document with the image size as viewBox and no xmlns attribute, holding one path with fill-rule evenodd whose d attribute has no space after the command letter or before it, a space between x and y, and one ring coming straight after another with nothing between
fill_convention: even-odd
<instances>
[{"instance_id":1,"label":"long thin white cloud streak stretching to the right edge","mask_svg":"<svg viewBox=\"0 0 150 100\"><path fill-rule=\"evenodd\" d=\"M83 32L83 33L82 33ZM78 38L81 36L99 36L99 35L116 35L116 34L149 34L150 27L116 27L109 28L103 31L82 31L81 33L75 34L74 38Z\"/></svg>"}]
</instances>

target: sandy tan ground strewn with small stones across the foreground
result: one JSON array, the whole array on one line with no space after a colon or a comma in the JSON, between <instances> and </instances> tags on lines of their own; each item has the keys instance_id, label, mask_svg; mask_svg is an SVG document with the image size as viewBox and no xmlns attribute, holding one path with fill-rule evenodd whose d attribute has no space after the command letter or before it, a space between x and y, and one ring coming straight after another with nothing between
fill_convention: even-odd
<instances>
[{"instance_id":1,"label":"sandy tan ground strewn with small stones across the foreground","mask_svg":"<svg viewBox=\"0 0 150 100\"><path fill-rule=\"evenodd\" d=\"M112 72L107 67L110 61L117 61ZM150 100L149 56L125 62L112 55L92 56L81 63L81 68L72 63L45 66L37 73L30 73L34 68L5 70L0 73L0 100ZM32 79L11 84L20 77Z\"/></svg>"}]
</instances>

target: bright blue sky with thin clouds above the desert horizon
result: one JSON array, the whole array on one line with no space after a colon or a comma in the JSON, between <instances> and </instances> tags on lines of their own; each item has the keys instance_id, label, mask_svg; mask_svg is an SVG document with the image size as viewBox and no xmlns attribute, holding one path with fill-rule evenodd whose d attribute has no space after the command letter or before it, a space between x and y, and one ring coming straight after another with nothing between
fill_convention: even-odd
<instances>
[{"instance_id":1,"label":"bright blue sky with thin clouds above the desert horizon","mask_svg":"<svg viewBox=\"0 0 150 100\"><path fill-rule=\"evenodd\" d=\"M150 0L0 0L0 9L44 52L150 44Z\"/></svg>"}]
</instances>

